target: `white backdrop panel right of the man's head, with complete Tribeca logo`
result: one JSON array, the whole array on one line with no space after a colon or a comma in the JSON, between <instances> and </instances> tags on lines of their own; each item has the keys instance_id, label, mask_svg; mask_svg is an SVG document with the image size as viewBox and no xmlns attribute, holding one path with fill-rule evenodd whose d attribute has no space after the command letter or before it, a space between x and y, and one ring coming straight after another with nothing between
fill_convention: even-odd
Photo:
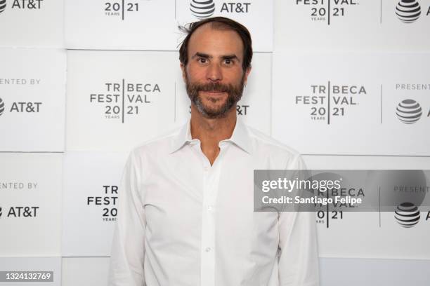
<instances>
[{"instance_id":1,"label":"white backdrop panel right of the man's head, with complete Tribeca logo","mask_svg":"<svg viewBox=\"0 0 430 286\"><path fill-rule=\"evenodd\" d=\"M302 154L429 156L429 54L273 60L273 137Z\"/></svg>"}]
</instances>

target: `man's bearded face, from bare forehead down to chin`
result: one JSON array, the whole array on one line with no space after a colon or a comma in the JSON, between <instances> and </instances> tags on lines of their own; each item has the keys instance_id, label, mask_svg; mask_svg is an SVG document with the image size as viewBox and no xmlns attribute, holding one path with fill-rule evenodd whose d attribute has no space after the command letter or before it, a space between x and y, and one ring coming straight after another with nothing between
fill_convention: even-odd
<instances>
[{"instance_id":1,"label":"man's bearded face, from bare forehead down to chin","mask_svg":"<svg viewBox=\"0 0 430 286\"><path fill-rule=\"evenodd\" d=\"M243 43L231 30L203 25L188 43L188 64L181 65L188 97L206 118L221 118L242 97L250 69L242 69Z\"/></svg>"}]
</instances>

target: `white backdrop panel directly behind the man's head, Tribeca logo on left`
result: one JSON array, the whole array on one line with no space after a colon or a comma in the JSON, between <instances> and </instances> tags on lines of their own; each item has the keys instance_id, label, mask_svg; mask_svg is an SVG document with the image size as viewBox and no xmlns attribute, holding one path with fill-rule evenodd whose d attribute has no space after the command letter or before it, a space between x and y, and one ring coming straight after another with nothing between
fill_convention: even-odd
<instances>
[{"instance_id":1,"label":"white backdrop panel directly behind the man's head, Tribeca logo on left","mask_svg":"<svg viewBox=\"0 0 430 286\"><path fill-rule=\"evenodd\" d=\"M237 116L267 133L271 59L255 53L255 72L237 106ZM190 100L178 52L69 50L66 114L67 151L130 151L181 125Z\"/></svg>"}]
</instances>

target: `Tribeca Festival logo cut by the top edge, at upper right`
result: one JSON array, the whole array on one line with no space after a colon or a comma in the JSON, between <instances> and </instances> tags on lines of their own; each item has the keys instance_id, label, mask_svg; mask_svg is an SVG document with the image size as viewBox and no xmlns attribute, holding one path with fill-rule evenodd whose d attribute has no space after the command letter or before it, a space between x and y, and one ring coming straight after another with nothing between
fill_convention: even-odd
<instances>
[{"instance_id":1,"label":"Tribeca Festival logo cut by the top edge, at upper right","mask_svg":"<svg viewBox=\"0 0 430 286\"><path fill-rule=\"evenodd\" d=\"M327 22L333 18L343 18L349 8L359 5L358 0L296 0L297 6L311 8L311 20Z\"/></svg>"}]
</instances>

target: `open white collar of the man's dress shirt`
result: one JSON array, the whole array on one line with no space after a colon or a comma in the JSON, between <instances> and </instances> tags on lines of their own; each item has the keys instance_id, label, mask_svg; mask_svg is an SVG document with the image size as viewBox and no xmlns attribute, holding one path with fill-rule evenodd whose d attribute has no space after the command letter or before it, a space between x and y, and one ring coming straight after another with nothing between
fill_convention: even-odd
<instances>
[{"instance_id":1,"label":"open white collar of the man's dress shirt","mask_svg":"<svg viewBox=\"0 0 430 286\"><path fill-rule=\"evenodd\" d=\"M188 144L194 140L191 137L191 123L190 120L182 126L179 132L174 136L174 139L171 144L170 153L174 153L181 149L185 144ZM235 129L233 130L233 135L229 139L222 140L221 142L233 142L237 147L246 151L247 153L251 153L251 139L249 137L249 133L247 130L247 126L240 120L240 118L236 119Z\"/></svg>"}]
</instances>

